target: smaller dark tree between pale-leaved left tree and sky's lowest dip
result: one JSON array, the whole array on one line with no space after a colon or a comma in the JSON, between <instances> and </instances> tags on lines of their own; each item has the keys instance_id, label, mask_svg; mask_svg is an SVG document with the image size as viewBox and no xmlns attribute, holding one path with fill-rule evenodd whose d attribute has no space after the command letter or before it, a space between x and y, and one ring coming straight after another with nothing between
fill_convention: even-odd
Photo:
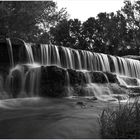
<instances>
[{"instance_id":1,"label":"smaller dark tree between pale-leaved left tree and sky's lowest dip","mask_svg":"<svg viewBox=\"0 0 140 140\"><path fill-rule=\"evenodd\" d=\"M62 20L50 30L52 43L79 49L81 38L81 22L78 19Z\"/></svg>"}]
</instances>

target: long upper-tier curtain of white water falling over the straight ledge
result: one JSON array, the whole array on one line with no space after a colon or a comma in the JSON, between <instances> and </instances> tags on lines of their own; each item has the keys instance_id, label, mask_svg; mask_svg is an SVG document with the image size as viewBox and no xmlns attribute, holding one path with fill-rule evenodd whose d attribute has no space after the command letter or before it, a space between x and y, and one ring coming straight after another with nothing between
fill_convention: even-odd
<instances>
[{"instance_id":1,"label":"long upper-tier curtain of white water falling over the straight ledge","mask_svg":"<svg viewBox=\"0 0 140 140\"><path fill-rule=\"evenodd\" d=\"M57 65L76 70L104 71L140 79L140 62L138 60L55 45L41 44L39 49L41 53L39 63L41 65ZM35 58L37 56L33 54L32 44L25 43L25 50L28 63L36 63Z\"/></svg>"}]
</instances>

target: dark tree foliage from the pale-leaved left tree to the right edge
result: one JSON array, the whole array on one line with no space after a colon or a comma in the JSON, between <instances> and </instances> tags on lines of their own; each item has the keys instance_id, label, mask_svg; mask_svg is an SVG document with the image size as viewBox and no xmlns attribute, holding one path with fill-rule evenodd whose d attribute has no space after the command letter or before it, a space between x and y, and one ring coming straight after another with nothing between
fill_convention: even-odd
<instances>
[{"instance_id":1,"label":"dark tree foliage from the pale-leaved left tree to the right edge","mask_svg":"<svg viewBox=\"0 0 140 140\"><path fill-rule=\"evenodd\" d=\"M116 13L99 13L81 23L63 20L51 28L52 42L76 49L113 55L139 54L140 2L124 2Z\"/></svg>"}]
</instances>

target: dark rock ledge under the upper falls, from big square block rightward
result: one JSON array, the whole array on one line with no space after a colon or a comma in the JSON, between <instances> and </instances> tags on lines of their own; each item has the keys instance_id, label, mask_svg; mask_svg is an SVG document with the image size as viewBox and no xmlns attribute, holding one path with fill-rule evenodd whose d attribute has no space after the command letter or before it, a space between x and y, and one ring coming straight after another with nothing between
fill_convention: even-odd
<instances>
[{"instance_id":1,"label":"dark rock ledge under the upper falls, from big square block rightward","mask_svg":"<svg viewBox=\"0 0 140 140\"><path fill-rule=\"evenodd\" d=\"M68 95L92 95L86 84L88 78L92 83L115 83L116 76L103 72L83 72L63 69L57 66L42 66L40 78L40 96L65 97Z\"/></svg>"}]
</instances>

